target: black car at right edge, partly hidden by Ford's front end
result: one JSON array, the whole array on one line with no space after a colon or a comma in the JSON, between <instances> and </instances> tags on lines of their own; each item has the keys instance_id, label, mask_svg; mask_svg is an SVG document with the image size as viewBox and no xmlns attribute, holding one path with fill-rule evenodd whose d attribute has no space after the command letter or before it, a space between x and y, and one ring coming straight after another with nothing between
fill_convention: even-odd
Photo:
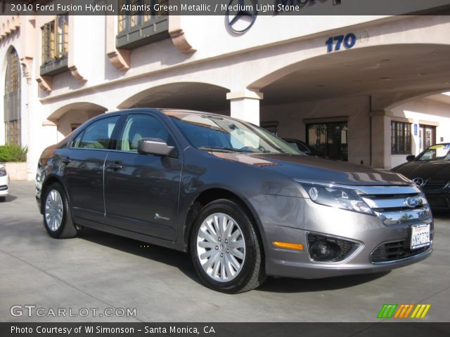
<instances>
[{"instance_id":1,"label":"black car at right edge, partly hidden by Ford's front end","mask_svg":"<svg viewBox=\"0 0 450 337\"><path fill-rule=\"evenodd\" d=\"M417 157L406 157L408 162L392 171L413 180L425 193L432 209L450 210L450 143L428 147Z\"/></svg>"}]
</instances>

